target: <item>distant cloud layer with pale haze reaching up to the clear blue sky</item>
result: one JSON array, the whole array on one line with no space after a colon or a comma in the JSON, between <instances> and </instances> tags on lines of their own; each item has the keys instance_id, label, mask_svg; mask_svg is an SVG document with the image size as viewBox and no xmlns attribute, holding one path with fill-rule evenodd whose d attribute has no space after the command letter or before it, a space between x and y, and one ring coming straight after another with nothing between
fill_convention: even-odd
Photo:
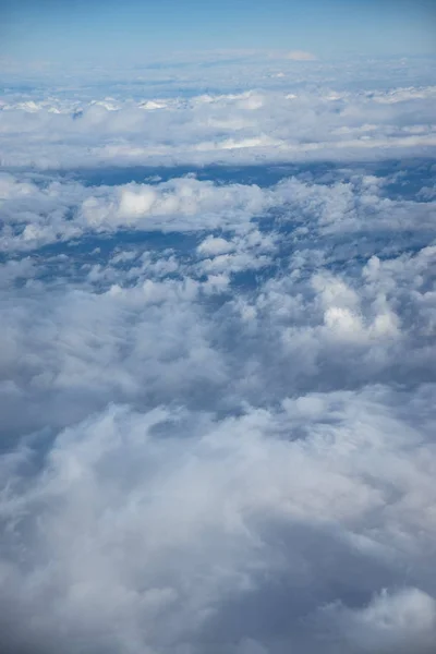
<instances>
[{"instance_id":1,"label":"distant cloud layer with pale haze reaching up to the clear blue sky","mask_svg":"<svg viewBox=\"0 0 436 654\"><path fill-rule=\"evenodd\" d=\"M65 170L365 161L436 152L431 68L420 73L416 61L385 60L374 71L360 60L343 74L341 62L312 65L311 57L293 51L209 59L203 69L198 62L102 69L94 73L104 87L97 93L83 71L71 73L71 95L44 78L25 96L12 86L0 98L0 164Z\"/></svg>"}]
</instances>

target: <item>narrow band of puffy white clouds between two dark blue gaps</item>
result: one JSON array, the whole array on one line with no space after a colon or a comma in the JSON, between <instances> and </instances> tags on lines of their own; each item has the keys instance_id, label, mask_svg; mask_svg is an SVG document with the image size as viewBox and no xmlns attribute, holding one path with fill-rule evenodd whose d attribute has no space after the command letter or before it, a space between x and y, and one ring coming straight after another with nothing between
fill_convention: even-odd
<instances>
[{"instance_id":1,"label":"narrow band of puffy white clouds between two dark blue gaps","mask_svg":"<svg viewBox=\"0 0 436 654\"><path fill-rule=\"evenodd\" d=\"M168 181L96 186L53 180L50 175L26 179L17 173L0 173L0 250L33 251L119 230L226 230L245 234L247 244L253 245L254 232L250 238L246 234L262 217L276 220L278 229L287 222L298 223L294 238L311 230L325 235L370 230L432 231L434 198L423 202L421 197L389 196L385 187L393 183L398 183L396 175L383 178L362 172L350 173L348 179L341 179L339 173L336 180L292 175L269 185L262 181L223 183L218 173L218 179L187 174ZM271 241L271 234L263 239L265 244L266 240ZM234 250L234 243L222 237L208 237L197 253L223 255Z\"/></svg>"}]
</instances>

